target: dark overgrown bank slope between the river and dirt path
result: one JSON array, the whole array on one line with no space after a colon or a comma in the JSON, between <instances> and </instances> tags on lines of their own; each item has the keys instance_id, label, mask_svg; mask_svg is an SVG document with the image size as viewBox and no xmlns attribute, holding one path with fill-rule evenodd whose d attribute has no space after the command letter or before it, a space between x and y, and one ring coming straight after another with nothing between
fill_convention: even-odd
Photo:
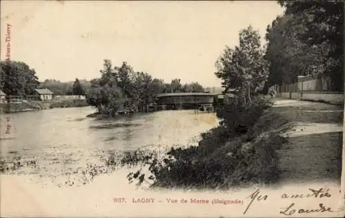
<instances>
[{"instance_id":1,"label":"dark overgrown bank slope between the river and dirt path","mask_svg":"<svg viewBox=\"0 0 345 218\"><path fill-rule=\"evenodd\" d=\"M149 172L134 171L128 179L138 184L150 180L153 187L229 188L277 182L277 150L288 143L282 133L292 124L272 105L272 100L259 97L246 105L227 105L218 111L224 124L201 134L198 146L172 148L165 157L152 151L128 152L121 164L148 166Z\"/></svg>"}]
</instances>

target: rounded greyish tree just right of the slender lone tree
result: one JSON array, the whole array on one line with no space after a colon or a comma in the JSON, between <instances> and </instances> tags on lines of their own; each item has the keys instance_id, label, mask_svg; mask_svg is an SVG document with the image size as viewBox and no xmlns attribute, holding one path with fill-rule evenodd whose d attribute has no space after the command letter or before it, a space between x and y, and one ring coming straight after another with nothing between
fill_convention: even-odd
<instances>
[{"instance_id":1,"label":"rounded greyish tree just right of the slender lone tree","mask_svg":"<svg viewBox=\"0 0 345 218\"><path fill-rule=\"evenodd\" d=\"M270 63L270 85L296 83L297 76L318 75L325 71L326 45L310 46L297 35L305 31L302 23L295 23L292 15L277 17L268 26L265 58Z\"/></svg>"}]
</instances>

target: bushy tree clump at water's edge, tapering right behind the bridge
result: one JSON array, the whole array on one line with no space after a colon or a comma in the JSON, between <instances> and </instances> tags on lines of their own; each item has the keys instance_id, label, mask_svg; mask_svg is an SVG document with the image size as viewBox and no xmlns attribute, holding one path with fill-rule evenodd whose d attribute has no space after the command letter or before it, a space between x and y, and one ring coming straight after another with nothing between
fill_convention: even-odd
<instances>
[{"instance_id":1,"label":"bushy tree clump at water's edge, tapering right behind the bridge","mask_svg":"<svg viewBox=\"0 0 345 218\"><path fill-rule=\"evenodd\" d=\"M155 102L157 94L204 91L199 83L182 85L179 78L165 83L148 73L135 72L126 62L121 67L113 67L112 62L105 59L100 72L100 78L90 81L86 99L90 105L97 107L99 113L108 116L115 116L117 111L123 109L138 111L140 105Z\"/></svg>"}]
</instances>

